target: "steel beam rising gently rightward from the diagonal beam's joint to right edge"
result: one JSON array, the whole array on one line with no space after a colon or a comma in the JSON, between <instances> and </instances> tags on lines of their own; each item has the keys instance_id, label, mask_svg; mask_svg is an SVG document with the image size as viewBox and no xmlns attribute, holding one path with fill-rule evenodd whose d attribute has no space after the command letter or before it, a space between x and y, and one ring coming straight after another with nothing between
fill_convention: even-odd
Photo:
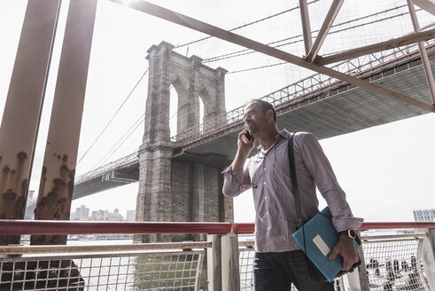
<instances>
[{"instance_id":1,"label":"steel beam rising gently rightward from the diagonal beam's joint to right edge","mask_svg":"<svg viewBox=\"0 0 435 291\"><path fill-rule=\"evenodd\" d=\"M391 50L409 43L417 43L421 41L426 41L435 37L435 28L431 30L426 30L423 32L418 32L411 35L401 36L398 38L393 38L389 41L382 43L374 43L367 46L362 46L361 48L340 52L338 54L325 57L318 62L319 66L329 65L332 63L337 63L338 61L345 59L355 59L369 53L374 53L377 51Z\"/></svg>"}]
</instances>

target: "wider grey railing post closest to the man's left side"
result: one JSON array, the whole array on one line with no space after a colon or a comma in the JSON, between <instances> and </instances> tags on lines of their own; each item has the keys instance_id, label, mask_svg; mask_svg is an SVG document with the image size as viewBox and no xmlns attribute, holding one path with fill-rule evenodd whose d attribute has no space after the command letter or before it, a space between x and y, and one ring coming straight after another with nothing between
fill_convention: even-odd
<instances>
[{"instance_id":1,"label":"wider grey railing post closest to the man's left side","mask_svg":"<svg viewBox=\"0 0 435 291\"><path fill-rule=\"evenodd\" d=\"M229 233L221 237L221 274L222 290L240 290L240 271L238 268L238 237Z\"/></svg>"}]
</instances>

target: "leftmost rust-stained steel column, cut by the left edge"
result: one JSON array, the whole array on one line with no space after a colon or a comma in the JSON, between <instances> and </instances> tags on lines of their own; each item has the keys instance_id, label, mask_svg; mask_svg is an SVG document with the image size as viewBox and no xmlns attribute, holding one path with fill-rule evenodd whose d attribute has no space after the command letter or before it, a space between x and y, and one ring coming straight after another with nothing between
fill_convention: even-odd
<instances>
[{"instance_id":1,"label":"leftmost rust-stained steel column, cut by the left edge","mask_svg":"<svg viewBox=\"0 0 435 291\"><path fill-rule=\"evenodd\" d=\"M59 0L29 0L0 127L0 219L23 219ZM19 243L0 236L0 245Z\"/></svg>"}]
</instances>

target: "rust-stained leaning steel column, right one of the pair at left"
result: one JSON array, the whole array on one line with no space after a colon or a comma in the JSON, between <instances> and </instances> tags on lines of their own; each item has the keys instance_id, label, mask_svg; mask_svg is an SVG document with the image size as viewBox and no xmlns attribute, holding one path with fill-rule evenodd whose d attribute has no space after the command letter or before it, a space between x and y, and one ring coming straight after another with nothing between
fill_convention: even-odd
<instances>
[{"instance_id":1,"label":"rust-stained leaning steel column, right one of the pair at left","mask_svg":"<svg viewBox=\"0 0 435 291\"><path fill-rule=\"evenodd\" d=\"M69 219L96 9L97 0L70 2L35 208L38 220ZM66 236L32 236L31 244L66 244Z\"/></svg>"}]
</instances>

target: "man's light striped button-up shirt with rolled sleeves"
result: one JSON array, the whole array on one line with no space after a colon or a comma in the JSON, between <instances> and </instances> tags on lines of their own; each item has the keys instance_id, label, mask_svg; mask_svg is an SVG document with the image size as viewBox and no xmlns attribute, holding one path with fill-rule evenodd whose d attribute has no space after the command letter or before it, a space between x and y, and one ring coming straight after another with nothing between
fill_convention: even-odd
<instances>
[{"instance_id":1,"label":"man's light striped button-up shirt with rolled sleeves","mask_svg":"<svg viewBox=\"0 0 435 291\"><path fill-rule=\"evenodd\" d=\"M284 252L298 249L291 234L296 230L296 213L288 161L288 138L281 130L267 151L259 152L245 162L244 169L225 169L223 193L235 197L252 188L255 205L255 240L257 252ZM319 210L316 186L327 201L332 223L338 232L361 226L363 219L353 217L346 194L338 185L330 161L317 138L308 132L297 132L293 138L300 205L304 220Z\"/></svg>"}]
</instances>

